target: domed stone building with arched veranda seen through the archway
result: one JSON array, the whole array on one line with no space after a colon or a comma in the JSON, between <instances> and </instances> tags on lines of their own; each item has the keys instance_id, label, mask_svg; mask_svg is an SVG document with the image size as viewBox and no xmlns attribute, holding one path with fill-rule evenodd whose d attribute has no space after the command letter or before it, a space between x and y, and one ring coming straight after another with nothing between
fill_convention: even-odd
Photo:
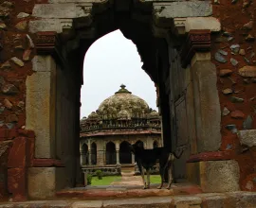
<instances>
[{"instance_id":1,"label":"domed stone building with arched veranda seen through the archway","mask_svg":"<svg viewBox=\"0 0 256 208\"><path fill-rule=\"evenodd\" d=\"M160 147L159 114L145 100L132 95L125 85L106 98L96 112L81 120L80 149L83 171L101 169L119 174L120 168L135 165L129 144L141 141L145 148Z\"/></svg>"}]
</instances>

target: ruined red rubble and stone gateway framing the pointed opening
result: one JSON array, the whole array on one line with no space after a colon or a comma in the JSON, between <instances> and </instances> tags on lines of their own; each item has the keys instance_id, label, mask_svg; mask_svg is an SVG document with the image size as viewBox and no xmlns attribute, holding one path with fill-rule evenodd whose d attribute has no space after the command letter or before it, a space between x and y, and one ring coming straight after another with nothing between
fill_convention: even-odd
<instances>
[{"instance_id":1,"label":"ruined red rubble and stone gateway framing the pointed opening","mask_svg":"<svg viewBox=\"0 0 256 208\"><path fill-rule=\"evenodd\" d=\"M0 195L46 199L81 183L82 61L116 29L155 82L163 145L188 147L174 177L203 192L255 191L255 9L251 0L1 0Z\"/></svg>"}]
</instances>

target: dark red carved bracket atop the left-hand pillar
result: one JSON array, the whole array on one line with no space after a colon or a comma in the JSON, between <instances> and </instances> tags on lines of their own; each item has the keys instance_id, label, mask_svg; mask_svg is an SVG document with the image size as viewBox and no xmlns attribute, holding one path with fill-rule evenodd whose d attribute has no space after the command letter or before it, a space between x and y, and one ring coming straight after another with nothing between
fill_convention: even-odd
<instances>
[{"instance_id":1,"label":"dark red carved bracket atop the left-hand pillar","mask_svg":"<svg viewBox=\"0 0 256 208\"><path fill-rule=\"evenodd\" d=\"M51 55L61 65L66 65L57 32L37 32L35 48L38 55Z\"/></svg>"}]
</instances>

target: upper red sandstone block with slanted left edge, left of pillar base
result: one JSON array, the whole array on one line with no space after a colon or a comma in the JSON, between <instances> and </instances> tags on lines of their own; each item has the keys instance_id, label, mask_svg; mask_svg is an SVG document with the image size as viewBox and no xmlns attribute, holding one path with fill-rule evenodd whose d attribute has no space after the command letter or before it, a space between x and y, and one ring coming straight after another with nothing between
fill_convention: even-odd
<instances>
[{"instance_id":1,"label":"upper red sandstone block with slanted left edge, left of pillar base","mask_svg":"<svg viewBox=\"0 0 256 208\"><path fill-rule=\"evenodd\" d=\"M25 137L17 137L9 151L8 167L25 167L27 162L27 141Z\"/></svg>"}]
</instances>

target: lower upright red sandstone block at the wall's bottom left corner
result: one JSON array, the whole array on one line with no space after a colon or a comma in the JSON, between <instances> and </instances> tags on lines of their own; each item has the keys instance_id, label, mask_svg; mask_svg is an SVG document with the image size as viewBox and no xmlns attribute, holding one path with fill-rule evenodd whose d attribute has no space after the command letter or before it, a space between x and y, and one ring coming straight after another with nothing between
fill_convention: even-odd
<instances>
[{"instance_id":1,"label":"lower upright red sandstone block at the wall's bottom left corner","mask_svg":"<svg viewBox=\"0 0 256 208\"><path fill-rule=\"evenodd\" d=\"M8 190L14 201L27 199L26 168L9 168Z\"/></svg>"}]
</instances>

